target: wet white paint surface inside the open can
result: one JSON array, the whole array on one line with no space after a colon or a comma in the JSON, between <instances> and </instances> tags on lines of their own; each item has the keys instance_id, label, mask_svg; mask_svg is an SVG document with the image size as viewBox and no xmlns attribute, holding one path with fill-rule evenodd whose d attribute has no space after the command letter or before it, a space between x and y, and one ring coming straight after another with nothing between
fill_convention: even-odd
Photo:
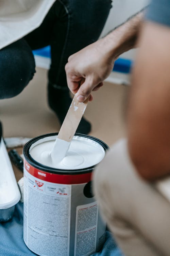
<instances>
[{"instance_id":1,"label":"wet white paint surface inside the open can","mask_svg":"<svg viewBox=\"0 0 170 256\"><path fill-rule=\"evenodd\" d=\"M36 141L30 147L30 155L32 158L48 167L75 170L94 166L99 163L105 155L104 149L99 143L89 138L74 136L66 157L64 157L61 162L56 161L54 163L50 158L50 152L54 147L56 138L56 136L51 136ZM58 154L60 154L60 151Z\"/></svg>"}]
</instances>

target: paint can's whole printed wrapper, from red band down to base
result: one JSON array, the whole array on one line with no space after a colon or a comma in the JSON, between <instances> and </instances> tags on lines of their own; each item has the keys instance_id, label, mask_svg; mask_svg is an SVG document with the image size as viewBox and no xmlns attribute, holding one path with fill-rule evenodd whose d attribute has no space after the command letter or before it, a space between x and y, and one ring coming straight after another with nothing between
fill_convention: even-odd
<instances>
[{"instance_id":1,"label":"paint can's whole printed wrapper, from red band down to base","mask_svg":"<svg viewBox=\"0 0 170 256\"><path fill-rule=\"evenodd\" d=\"M91 176L81 175L85 181L81 184L69 184L73 175L66 176L38 170L24 161L23 238L40 256L88 256L105 239L97 201L83 194Z\"/></svg>"}]
</instances>

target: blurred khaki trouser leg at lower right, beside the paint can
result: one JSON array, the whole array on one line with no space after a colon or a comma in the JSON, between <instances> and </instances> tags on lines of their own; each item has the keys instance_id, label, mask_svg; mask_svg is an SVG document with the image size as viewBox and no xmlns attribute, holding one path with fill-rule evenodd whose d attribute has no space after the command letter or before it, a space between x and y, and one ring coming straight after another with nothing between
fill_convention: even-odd
<instances>
[{"instance_id":1,"label":"blurred khaki trouser leg at lower right, beside the paint can","mask_svg":"<svg viewBox=\"0 0 170 256\"><path fill-rule=\"evenodd\" d=\"M170 203L140 179L121 140L94 174L101 213L126 256L170 256Z\"/></svg>"}]
</instances>

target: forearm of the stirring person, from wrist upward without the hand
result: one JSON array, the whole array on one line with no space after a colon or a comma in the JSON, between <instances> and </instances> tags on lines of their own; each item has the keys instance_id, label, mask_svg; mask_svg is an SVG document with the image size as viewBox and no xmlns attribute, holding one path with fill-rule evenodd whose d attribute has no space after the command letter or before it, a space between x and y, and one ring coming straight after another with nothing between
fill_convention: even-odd
<instances>
[{"instance_id":1,"label":"forearm of the stirring person, from wrist upward without the hand","mask_svg":"<svg viewBox=\"0 0 170 256\"><path fill-rule=\"evenodd\" d=\"M104 44L110 51L110 56L114 59L135 47L145 9L130 17L103 38Z\"/></svg>"}]
</instances>

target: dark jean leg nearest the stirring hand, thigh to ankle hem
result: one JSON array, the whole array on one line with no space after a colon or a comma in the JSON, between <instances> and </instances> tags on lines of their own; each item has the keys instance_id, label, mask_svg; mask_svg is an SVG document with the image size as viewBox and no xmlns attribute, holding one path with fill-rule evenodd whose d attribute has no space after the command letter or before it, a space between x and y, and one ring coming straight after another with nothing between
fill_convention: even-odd
<instances>
[{"instance_id":1,"label":"dark jean leg nearest the stirring hand, thigh to ankle hem","mask_svg":"<svg viewBox=\"0 0 170 256\"><path fill-rule=\"evenodd\" d=\"M68 57L95 42L104 27L111 0L60 0L56 1L56 24L51 41L52 61L49 80L66 86L65 65ZM58 29L60 40L58 40Z\"/></svg>"}]
</instances>

